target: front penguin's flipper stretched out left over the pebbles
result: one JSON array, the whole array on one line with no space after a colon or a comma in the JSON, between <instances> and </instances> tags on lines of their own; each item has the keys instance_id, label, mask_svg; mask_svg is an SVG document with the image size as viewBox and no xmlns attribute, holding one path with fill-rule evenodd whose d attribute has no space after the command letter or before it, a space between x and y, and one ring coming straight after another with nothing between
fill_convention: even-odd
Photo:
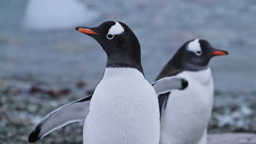
<instances>
[{"instance_id":1,"label":"front penguin's flipper stretched out left over the pebbles","mask_svg":"<svg viewBox=\"0 0 256 144\"><path fill-rule=\"evenodd\" d=\"M82 121L89 112L89 105L92 95L72 103L61 106L59 109L45 116L31 131L28 142L33 143L69 123Z\"/></svg>"}]
</instances>

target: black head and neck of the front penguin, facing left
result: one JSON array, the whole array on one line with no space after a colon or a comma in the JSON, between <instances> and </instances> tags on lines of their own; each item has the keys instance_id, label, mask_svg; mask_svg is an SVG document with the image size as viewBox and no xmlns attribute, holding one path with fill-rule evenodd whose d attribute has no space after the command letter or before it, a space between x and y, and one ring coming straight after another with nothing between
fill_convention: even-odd
<instances>
[{"instance_id":1,"label":"black head and neck of the front penguin, facing left","mask_svg":"<svg viewBox=\"0 0 256 144\"><path fill-rule=\"evenodd\" d=\"M107 67L136 68L143 73L141 46L136 35L125 23L106 21L97 27L75 29L98 41L107 53Z\"/></svg>"}]
</instances>

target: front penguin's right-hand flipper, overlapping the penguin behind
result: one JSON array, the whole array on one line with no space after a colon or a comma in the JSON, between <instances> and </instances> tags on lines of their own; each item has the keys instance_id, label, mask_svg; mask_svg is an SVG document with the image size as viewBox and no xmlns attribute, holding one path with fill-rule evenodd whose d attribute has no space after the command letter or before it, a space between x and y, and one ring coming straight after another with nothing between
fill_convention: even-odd
<instances>
[{"instance_id":1,"label":"front penguin's right-hand flipper, overlapping the penguin behind","mask_svg":"<svg viewBox=\"0 0 256 144\"><path fill-rule=\"evenodd\" d=\"M155 81L151 85L159 95L171 92L173 89L185 89L188 86L188 81L182 77L170 76Z\"/></svg>"}]
</instances>

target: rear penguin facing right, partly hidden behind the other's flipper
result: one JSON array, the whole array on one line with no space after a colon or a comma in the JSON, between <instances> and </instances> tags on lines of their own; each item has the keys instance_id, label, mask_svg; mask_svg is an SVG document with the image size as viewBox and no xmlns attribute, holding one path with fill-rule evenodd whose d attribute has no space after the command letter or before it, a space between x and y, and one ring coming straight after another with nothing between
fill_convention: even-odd
<instances>
[{"instance_id":1,"label":"rear penguin facing right, partly hidden behind the other's flipper","mask_svg":"<svg viewBox=\"0 0 256 144\"><path fill-rule=\"evenodd\" d=\"M156 80L180 76L188 80L184 91L159 95L160 143L206 143L207 125L213 106L213 78L209 67L214 56L228 52L214 49L208 41L187 41L165 65Z\"/></svg>"}]
</instances>

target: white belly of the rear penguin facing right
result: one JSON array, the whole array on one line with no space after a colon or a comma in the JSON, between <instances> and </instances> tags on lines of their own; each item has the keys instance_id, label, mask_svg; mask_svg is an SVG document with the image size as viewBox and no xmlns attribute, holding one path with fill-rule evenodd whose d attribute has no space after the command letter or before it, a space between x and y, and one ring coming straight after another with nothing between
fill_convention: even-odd
<instances>
[{"instance_id":1,"label":"white belly of the rear penguin facing right","mask_svg":"<svg viewBox=\"0 0 256 144\"><path fill-rule=\"evenodd\" d=\"M213 106L211 69L183 71L184 91L172 91L161 117L160 143L197 144L210 121Z\"/></svg>"}]
</instances>

